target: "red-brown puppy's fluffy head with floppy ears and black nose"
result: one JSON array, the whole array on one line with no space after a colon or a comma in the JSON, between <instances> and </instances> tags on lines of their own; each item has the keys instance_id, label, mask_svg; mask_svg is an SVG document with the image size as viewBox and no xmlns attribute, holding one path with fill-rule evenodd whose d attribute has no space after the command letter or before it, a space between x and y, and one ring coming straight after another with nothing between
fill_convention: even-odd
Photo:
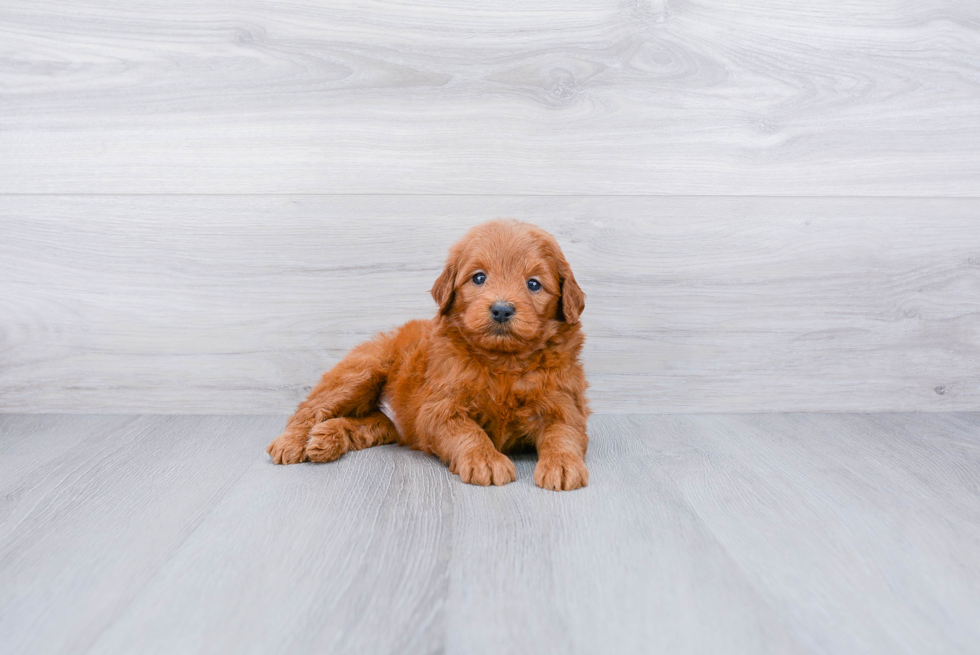
<instances>
[{"instance_id":1,"label":"red-brown puppy's fluffy head with floppy ears and black nose","mask_svg":"<svg viewBox=\"0 0 980 655\"><path fill-rule=\"evenodd\" d=\"M470 230L432 286L439 311L485 350L520 352L578 323L585 294L554 237L513 220Z\"/></svg>"}]
</instances>

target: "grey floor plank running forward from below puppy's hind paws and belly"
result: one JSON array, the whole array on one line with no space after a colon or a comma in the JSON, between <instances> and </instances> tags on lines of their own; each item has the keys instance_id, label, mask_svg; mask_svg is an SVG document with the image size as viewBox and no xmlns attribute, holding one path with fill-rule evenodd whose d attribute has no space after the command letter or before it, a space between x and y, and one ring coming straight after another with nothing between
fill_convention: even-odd
<instances>
[{"instance_id":1,"label":"grey floor plank running forward from below puppy's hind paws and belly","mask_svg":"<svg viewBox=\"0 0 980 655\"><path fill-rule=\"evenodd\" d=\"M439 652L456 483L446 468L396 447L337 466L253 454L90 653Z\"/></svg>"}]
</instances>

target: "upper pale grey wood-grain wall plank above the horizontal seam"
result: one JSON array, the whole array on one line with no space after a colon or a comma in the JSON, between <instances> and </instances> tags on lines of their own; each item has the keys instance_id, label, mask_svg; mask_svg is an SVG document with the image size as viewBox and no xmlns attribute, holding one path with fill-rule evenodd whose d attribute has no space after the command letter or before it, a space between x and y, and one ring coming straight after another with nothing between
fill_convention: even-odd
<instances>
[{"instance_id":1,"label":"upper pale grey wood-grain wall plank above the horizontal seam","mask_svg":"<svg viewBox=\"0 0 980 655\"><path fill-rule=\"evenodd\" d=\"M980 5L7 0L0 192L976 196Z\"/></svg>"}]
</instances>

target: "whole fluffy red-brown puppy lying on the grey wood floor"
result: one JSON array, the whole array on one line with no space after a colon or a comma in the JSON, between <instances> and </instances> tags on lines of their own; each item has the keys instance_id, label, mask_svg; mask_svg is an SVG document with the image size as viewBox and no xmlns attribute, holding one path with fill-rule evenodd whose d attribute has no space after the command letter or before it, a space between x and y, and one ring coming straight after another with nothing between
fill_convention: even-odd
<instances>
[{"instance_id":1,"label":"whole fluffy red-brown puppy lying on the grey wood floor","mask_svg":"<svg viewBox=\"0 0 980 655\"><path fill-rule=\"evenodd\" d=\"M449 251L432 297L435 318L378 335L324 374L269 444L272 460L399 443L486 486L513 482L504 453L533 446L539 487L588 484L585 294L555 239L518 221L479 225Z\"/></svg>"}]
</instances>

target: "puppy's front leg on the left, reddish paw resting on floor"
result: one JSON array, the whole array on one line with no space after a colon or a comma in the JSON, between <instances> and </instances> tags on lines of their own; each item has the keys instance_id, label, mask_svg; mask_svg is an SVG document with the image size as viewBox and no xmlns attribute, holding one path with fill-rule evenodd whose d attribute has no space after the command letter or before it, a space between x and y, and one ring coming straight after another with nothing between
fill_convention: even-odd
<instances>
[{"instance_id":1,"label":"puppy's front leg on the left, reddish paw resting on floor","mask_svg":"<svg viewBox=\"0 0 980 655\"><path fill-rule=\"evenodd\" d=\"M467 484L503 486L517 479L514 462L494 448L487 433L470 418L450 419L428 436L427 450Z\"/></svg>"}]
</instances>

